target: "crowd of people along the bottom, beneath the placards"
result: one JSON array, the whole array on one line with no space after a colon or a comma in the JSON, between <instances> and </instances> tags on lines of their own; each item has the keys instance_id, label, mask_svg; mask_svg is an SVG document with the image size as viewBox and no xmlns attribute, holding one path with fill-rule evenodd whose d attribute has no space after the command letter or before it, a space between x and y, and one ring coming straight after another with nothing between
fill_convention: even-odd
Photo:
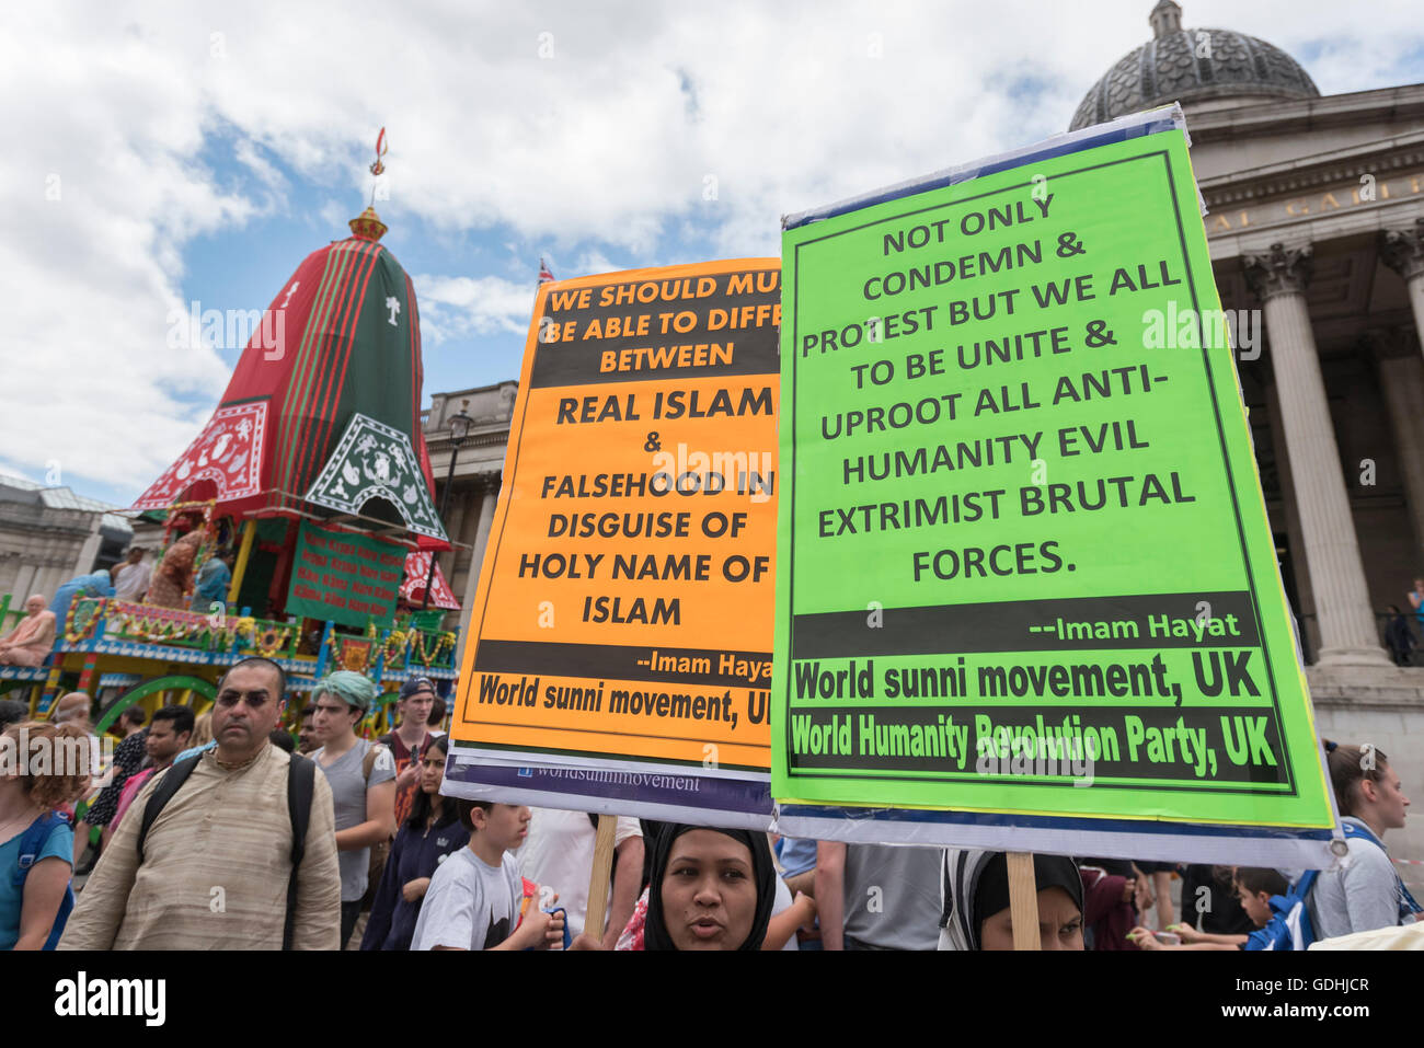
<instances>
[{"instance_id":1,"label":"crowd of people along the bottom, beneath the placards","mask_svg":"<svg viewBox=\"0 0 1424 1048\"><path fill-rule=\"evenodd\" d=\"M83 769L0 776L0 947L293 950L1001 950L1014 944L1002 852L776 839L618 819L591 906L598 819L441 792L449 742L429 679L397 728L359 726L376 688L322 679L298 739L282 668L248 658L204 718L131 709L97 795ZM90 696L50 720L0 703L13 745L88 739ZM439 716L436 716L439 713ZM208 723L202 723L202 720ZM285 743L285 745L283 745ZM31 742L33 746L33 742ZM306 756L303 756L306 755ZM1032 857L1044 950L1282 948L1413 924L1386 849L1408 800L1388 758L1327 743L1347 860L1326 870ZM67 812L93 796L78 834ZM81 873L93 829L100 856ZM1180 879L1180 913L1172 898ZM1293 907L1299 913L1293 913ZM590 913L607 923L591 927ZM1155 926L1155 927L1149 927ZM1299 944L1299 936L1297 936Z\"/></svg>"}]
</instances>

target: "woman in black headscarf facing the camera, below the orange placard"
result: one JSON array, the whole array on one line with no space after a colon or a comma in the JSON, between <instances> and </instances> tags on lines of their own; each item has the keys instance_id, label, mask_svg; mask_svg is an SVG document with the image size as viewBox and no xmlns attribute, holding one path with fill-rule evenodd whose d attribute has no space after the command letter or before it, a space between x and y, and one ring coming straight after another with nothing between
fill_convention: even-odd
<instances>
[{"instance_id":1,"label":"woman in black headscarf facing the camera, below the orange placard","mask_svg":"<svg viewBox=\"0 0 1424 1048\"><path fill-rule=\"evenodd\" d=\"M760 950L776 901L765 833L664 824L652 843L645 950Z\"/></svg>"}]
</instances>

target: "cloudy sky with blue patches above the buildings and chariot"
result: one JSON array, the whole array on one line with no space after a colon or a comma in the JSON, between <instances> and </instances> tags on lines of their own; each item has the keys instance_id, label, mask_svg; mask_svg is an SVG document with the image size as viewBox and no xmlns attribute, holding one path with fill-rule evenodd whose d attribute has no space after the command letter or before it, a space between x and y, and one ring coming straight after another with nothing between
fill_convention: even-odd
<instances>
[{"instance_id":1,"label":"cloudy sky with blue patches above the buildings and chariot","mask_svg":"<svg viewBox=\"0 0 1424 1048\"><path fill-rule=\"evenodd\" d=\"M24 4L0 34L0 473L128 504L261 309L347 235L387 128L384 243L426 394L513 379L555 276L779 253L779 216L1067 130L1148 0ZM1091 16L1085 14L1091 10ZM1417 0L1186 0L1324 94L1424 80Z\"/></svg>"}]
</instances>

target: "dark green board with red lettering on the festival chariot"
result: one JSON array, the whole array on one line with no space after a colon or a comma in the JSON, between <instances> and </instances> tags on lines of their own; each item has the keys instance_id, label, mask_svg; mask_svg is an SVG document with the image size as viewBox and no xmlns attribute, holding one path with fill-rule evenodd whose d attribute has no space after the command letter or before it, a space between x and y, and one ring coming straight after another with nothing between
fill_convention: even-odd
<instances>
[{"instance_id":1,"label":"dark green board with red lettering on the festival chariot","mask_svg":"<svg viewBox=\"0 0 1424 1048\"><path fill-rule=\"evenodd\" d=\"M393 625L404 570L406 552L394 543L302 521L286 612L347 627Z\"/></svg>"}]
</instances>

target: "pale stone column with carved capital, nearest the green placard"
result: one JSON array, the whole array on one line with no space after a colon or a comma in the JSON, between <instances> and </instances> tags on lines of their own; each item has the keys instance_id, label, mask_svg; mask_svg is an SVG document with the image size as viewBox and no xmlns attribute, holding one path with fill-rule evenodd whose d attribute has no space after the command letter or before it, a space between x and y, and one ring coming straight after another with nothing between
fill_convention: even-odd
<instances>
[{"instance_id":1,"label":"pale stone column with carved capital, nearest the green placard","mask_svg":"<svg viewBox=\"0 0 1424 1048\"><path fill-rule=\"evenodd\" d=\"M1272 370L1286 427L1306 565L1320 624L1321 665L1388 666L1370 612L1350 496L1306 309L1310 245L1246 255L1246 281L1266 310Z\"/></svg>"}]
</instances>

